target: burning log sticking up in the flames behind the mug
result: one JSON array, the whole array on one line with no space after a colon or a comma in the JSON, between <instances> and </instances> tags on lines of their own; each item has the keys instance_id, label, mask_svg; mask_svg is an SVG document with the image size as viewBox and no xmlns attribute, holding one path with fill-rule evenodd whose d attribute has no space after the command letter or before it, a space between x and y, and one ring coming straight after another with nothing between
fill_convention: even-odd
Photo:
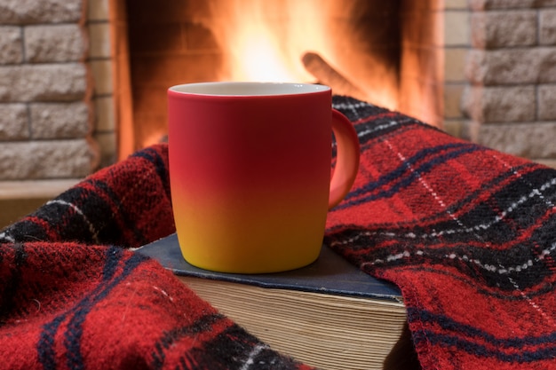
<instances>
[{"instance_id":1,"label":"burning log sticking up in the flames behind the mug","mask_svg":"<svg viewBox=\"0 0 556 370\"><path fill-rule=\"evenodd\" d=\"M360 100L367 100L367 95L351 83L344 75L330 66L326 60L315 52L306 52L301 58L307 72L319 81L332 88L336 95L347 95Z\"/></svg>"}]
</instances>

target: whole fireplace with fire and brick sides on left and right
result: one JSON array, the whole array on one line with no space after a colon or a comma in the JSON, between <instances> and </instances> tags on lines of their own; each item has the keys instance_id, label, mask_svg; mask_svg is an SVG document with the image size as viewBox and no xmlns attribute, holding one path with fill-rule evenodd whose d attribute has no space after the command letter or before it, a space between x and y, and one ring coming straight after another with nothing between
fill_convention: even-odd
<instances>
[{"instance_id":1,"label":"whole fireplace with fire and brick sides on left and right","mask_svg":"<svg viewBox=\"0 0 556 370\"><path fill-rule=\"evenodd\" d=\"M0 180L20 192L73 182L158 141L166 88L217 79L330 83L556 165L553 0L0 3ZM232 35L258 54L226 55L242 51ZM270 75L234 69L277 61Z\"/></svg>"}]
</instances>

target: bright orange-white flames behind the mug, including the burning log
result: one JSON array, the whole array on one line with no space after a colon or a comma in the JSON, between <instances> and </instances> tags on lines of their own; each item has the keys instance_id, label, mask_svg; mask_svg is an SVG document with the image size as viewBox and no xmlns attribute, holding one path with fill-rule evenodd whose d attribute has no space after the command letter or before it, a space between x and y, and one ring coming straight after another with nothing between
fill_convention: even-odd
<instances>
[{"instance_id":1,"label":"bright orange-white flames behind the mug, including the burning log","mask_svg":"<svg viewBox=\"0 0 556 370\"><path fill-rule=\"evenodd\" d=\"M353 17L355 3L208 1L210 18L197 21L211 30L225 56L218 80L324 83L334 93L397 107L397 71L361 52L361 40L338 22ZM304 64L307 52L317 57L316 74ZM337 74L328 78L327 70Z\"/></svg>"}]
</instances>

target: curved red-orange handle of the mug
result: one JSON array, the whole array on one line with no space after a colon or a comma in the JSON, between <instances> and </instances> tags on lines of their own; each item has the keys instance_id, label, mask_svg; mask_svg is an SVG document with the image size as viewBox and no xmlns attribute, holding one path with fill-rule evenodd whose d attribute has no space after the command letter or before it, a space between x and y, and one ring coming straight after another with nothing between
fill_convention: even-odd
<instances>
[{"instance_id":1,"label":"curved red-orange handle of the mug","mask_svg":"<svg viewBox=\"0 0 556 370\"><path fill-rule=\"evenodd\" d=\"M352 188L359 170L360 146L357 132L344 114L332 109L332 131L336 138L337 158L330 179L329 209L338 205Z\"/></svg>"}]
</instances>

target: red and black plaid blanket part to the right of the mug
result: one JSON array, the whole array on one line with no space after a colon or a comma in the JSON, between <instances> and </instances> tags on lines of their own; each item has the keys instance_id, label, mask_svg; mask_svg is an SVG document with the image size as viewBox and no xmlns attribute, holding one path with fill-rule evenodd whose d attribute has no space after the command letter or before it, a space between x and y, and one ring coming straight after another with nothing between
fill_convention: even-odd
<instances>
[{"instance_id":1,"label":"red and black plaid blanket part to the right of the mug","mask_svg":"<svg viewBox=\"0 0 556 370\"><path fill-rule=\"evenodd\" d=\"M556 170L336 98L361 169L326 244L401 287L425 369L555 369Z\"/></svg>"}]
</instances>

